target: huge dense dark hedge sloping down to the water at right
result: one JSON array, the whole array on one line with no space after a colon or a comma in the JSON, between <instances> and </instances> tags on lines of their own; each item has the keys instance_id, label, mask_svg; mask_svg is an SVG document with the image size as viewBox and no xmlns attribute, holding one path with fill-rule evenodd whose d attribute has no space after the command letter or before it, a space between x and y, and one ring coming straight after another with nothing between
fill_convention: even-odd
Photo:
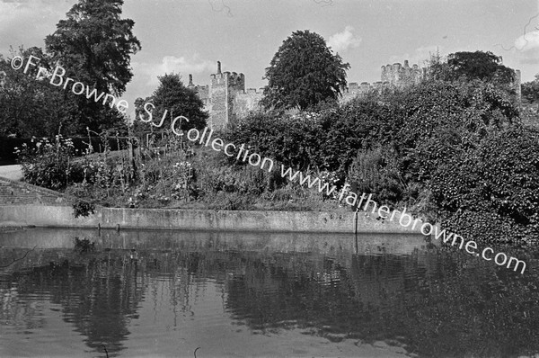
<instances>
[{"instance_id":1,"label":"huge dense dark hedge sloping down to the water at right","mask_svg":"<svg viewBox=\"0 0 539 358\"><path fill-rule=\"evenodd\" d=\"M421 202L460 235L522 243L539 237L539 135L519 121L494 85L427 81L317 112L252 115L227 136L335 172L379 202Z\"/></svg>"}]
</instances>

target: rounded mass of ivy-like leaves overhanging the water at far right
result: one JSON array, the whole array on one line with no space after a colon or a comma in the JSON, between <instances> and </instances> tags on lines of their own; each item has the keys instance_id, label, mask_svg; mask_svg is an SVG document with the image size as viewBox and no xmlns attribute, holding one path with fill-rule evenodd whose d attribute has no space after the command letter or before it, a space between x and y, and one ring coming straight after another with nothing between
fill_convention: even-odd
<instances>
[{"instance_id":1,"label":"rounded mass of ivy-like leaves overhanging the water at far right","mask_svg":"<svg viewBox=\"0 0 539 358\"><path fill-rule=\"evenodd\" d=\"M491 132L477 148L446 158L429 186L441 216L463 234L498 242L538 237L539 134L519 126ZM476 225L465 224L473 218Z\"/></svg>"}]
</instances>

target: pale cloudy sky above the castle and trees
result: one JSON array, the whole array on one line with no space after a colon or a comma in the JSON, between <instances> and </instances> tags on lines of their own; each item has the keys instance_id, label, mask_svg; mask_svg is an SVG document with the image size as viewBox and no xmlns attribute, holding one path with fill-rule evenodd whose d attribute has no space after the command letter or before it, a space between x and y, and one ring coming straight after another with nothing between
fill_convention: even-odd
<instances>
[{"instance_id":1,"label":"pale cloudy sky above the castle and trees","mask_svg":"<svg viewBox=\"0 0 539 358\"><path fill-rule=\"evenodd\" d=\"M0 0L0 53L43 47L75 3ZM436 51L478 49L520 69L523 82L539 73L539 0L124 0L122 17L135 21L142 45L122 95L130 108L165 73L208 85L217 60L260 88L278 47L298 30L323 36L350 64L349 82L380 81L380 67L405 59L424 66Z\"/></svg>"}]
</instances>

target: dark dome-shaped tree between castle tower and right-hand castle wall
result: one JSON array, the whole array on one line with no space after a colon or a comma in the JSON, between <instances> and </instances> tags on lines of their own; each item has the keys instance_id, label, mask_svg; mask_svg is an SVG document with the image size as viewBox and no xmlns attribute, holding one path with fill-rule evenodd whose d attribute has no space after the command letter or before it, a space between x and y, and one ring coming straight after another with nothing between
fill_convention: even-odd
<instances>
[{"instance_id":1,"label":"dark dome-shaped tree between castle tower and right-hand castle wall","mask_svg":"<svg viewBox=\"0 0 539 358\"><path fill-rule=\"evenodd\" d=\"M305 110L325 100L335 101L347 85L349 67L319 34L293 32L266 68L269 83L261 103L267 109Z\"/></svg>"}]
</instances>

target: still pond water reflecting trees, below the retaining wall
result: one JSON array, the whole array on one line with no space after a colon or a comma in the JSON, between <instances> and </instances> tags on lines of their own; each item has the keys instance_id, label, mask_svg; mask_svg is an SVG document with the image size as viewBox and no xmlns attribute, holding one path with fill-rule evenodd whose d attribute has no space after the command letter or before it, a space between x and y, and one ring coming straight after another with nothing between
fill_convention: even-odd
<instances>
[{"instance_id":1,"label":"still pond water reflecting trees, below the retaining wall","mask_svg":"<svg viewBox=\"0 0 539 358\"><path fill-rule=\"evenodd\" d=\"M33 228L0 246L2 357L539 354L530 254L520 274L411 235L360 235L358 254L353 235L234 232Z\"/></svg>"}]
</instances>

